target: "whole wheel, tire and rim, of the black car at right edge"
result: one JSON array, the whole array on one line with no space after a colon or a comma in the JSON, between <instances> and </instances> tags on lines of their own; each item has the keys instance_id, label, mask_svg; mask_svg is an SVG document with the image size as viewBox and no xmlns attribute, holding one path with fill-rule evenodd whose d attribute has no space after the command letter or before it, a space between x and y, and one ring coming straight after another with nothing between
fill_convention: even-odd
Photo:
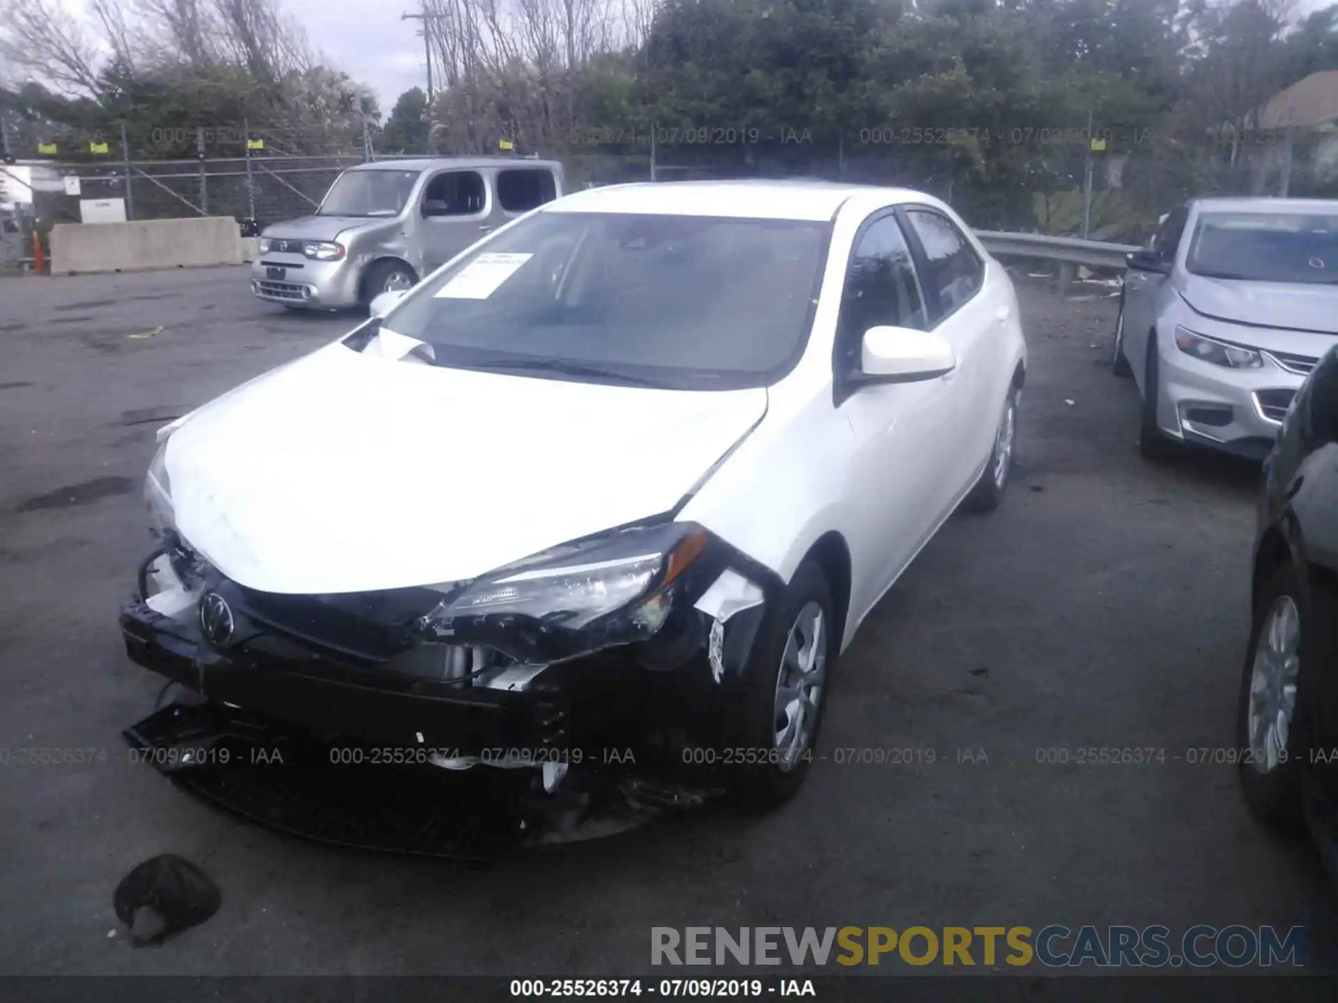
<instances>
[{"instance_id":1,"label":"whole wheel, tire and rim, of the black car at right edge","mask_svg":"<svg viewBox=\"0 0 1338 1003\"><path fill-rule=\"evenodd\" d=\"M1236 753L1250 810L1280 828L1302 822L1307 717L1303 661L1318 642L1301 582L1287 563L1260 586L1240 678Z\"/></svg>"}]
</instances>

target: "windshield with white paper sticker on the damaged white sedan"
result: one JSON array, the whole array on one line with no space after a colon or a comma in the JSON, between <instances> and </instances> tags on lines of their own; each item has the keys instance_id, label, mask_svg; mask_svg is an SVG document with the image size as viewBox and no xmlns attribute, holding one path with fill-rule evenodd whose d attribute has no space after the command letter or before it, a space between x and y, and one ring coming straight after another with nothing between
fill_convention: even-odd
<instances>
[{"instance_id":1,"label":"windshield with white paper sticker on the damaged white sedan","mask_svg":"<svg viewBox=\"0 0 1338 1003\"><path fill-rule=\"evenodd\" d=\"M812 321L830 225L538 213L387 318L438 365L727 389L773 382Z\"/></svg>"}]
</instances>

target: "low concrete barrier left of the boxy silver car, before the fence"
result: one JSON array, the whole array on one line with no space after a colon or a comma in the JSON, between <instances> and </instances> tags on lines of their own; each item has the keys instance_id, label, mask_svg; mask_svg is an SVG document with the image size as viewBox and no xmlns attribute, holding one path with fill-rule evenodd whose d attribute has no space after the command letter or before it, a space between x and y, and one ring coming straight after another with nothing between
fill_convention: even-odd
<instances>
[{"instance_id":1,"label":"low concrete barrier left of the boxy silver car, before the fence","mask_svg":"<svg viewBox=\"0 0 1338 1003\"><path fill-rule=\"evenodd\" d=\"M231 217L51 227L52 275L241 265L244 257Z\"/></svg>"}]
</instances>

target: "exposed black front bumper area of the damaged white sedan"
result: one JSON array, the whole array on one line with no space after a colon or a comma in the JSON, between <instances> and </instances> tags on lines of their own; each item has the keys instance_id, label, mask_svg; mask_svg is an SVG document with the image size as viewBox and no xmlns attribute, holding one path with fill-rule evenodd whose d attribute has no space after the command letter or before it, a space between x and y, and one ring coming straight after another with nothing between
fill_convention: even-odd
<instances>
[{"instance_id":1,"label":"exposed black front bumper area of the damaged white sedan","mask_svg":"<svg viewBox=\"0 0 1338 1003\"><path fill-rule=\"evenodd\" d=\"M510 665L462 685L431 677L448 646L387 642L371 650L365 622L345 623L339 611L317 622L328 612L318 596L269 596L218 576L187 587L162 554L145 562L139 580L119 615L138 665L322 741L425 750L447 766L690 764L686 749L717 745L729 733L735 683L765 608L686 610L686 633L656 650L626 646L546 666ZM161 600L162 590L175 590L170 602ZM717 603L721 591L702 604ZM206 637L201 608L210 596L227 607L223 643ZM308 610L314 617L304 619Z\"/></svg>"}]
</instances>

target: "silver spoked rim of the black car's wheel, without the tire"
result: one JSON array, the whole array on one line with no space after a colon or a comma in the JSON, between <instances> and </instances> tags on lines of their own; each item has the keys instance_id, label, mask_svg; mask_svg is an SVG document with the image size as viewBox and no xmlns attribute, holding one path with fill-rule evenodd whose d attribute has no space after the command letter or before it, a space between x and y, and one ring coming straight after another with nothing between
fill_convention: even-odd
<instances>
[{"instance_id":1,"label":"silver spoked rim of the black car's wheel, without the tire","mask_svg":"<svg viewBox=\"0 0 1338 1003\"><path fill-rule=\"evenodd\" d=\"M1279 595L1255 645L1246 711L1251 760L1260 773L1286 762L1299 675L1301 611L1290 595Z\"/></svg>"}]
</instances>

